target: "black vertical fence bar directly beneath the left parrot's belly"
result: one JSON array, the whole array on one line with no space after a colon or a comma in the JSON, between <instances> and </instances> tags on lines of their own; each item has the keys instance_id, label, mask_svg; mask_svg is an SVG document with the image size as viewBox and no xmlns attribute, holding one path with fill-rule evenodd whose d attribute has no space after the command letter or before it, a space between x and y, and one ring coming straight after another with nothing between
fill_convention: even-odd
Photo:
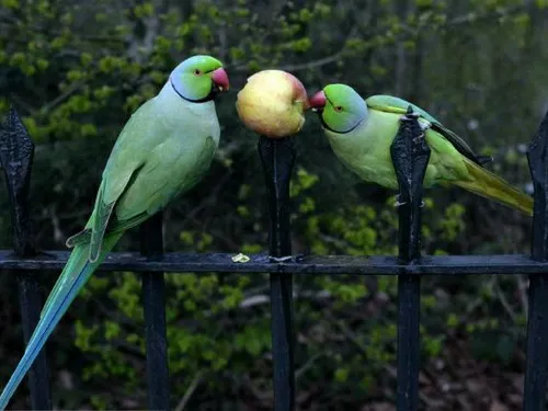
<instances>
[{"instance_id":1,"label":"black vertical fence bar directly beneath the left parrot's belly","mask_svg":"<svg viewBox=\"0 0 548 411\"><path fill-rule=\"evenodd\" d=\"M140 227L141 253L149 259L163 254L162 213ZM150 410L169 410L168 338L165 333L165 283L163 273L142 273L142 307L147 339L148 403Z\"/></svg>"}]
</instances>

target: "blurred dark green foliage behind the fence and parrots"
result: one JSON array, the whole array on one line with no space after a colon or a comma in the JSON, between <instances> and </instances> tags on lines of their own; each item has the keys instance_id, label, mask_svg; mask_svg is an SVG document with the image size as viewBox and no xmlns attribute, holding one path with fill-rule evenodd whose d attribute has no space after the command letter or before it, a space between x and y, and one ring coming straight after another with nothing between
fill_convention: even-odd
<instances>
[{"instance_id":1,"label":"blurred dark green foliage behind the fence and parrots","mask_svg":"<svg viewBox=\"0 0 548 411\"><path fill-rule=\"evenodd\" d=\"M0 113L13 103L36 141L38 241L62 249L81 228L121 127L197 53L225 61L232 88L217 102L221 145L209 174L165 213L168 250L265 250L256 136L233 105L246 78L265 68L292 71L309 93L346 82L364 96L410 99L494 155L489 167L523 187L523 145L547 107L547 10L546 1L523 0L0 0ZM307 118L292 182L295 251L395 254L395 193L344 170L317 118ZM523 216L456 189L426 194L424 252L528 251ZM0 241L10 247L7 213ZM130 232L119 249L136 241ZM186 393L192 410L269 409L267 278L165 277L173 403ZM45 293L54 281L44 274ZM0 276L0 323L12 330L0 338L1 380L22 350L13 287ZM518 276L425 278L424 367L465 344L476 361L521 372L513 359L523 351L525 287ZM392 401L396 278L305 276L295 288L299 409ZM139 278L95 275L48 343L56 404L146 407L142 338ZM25 407L24 397L21 388L14 404Z\"/></svg>"}]
</instances>

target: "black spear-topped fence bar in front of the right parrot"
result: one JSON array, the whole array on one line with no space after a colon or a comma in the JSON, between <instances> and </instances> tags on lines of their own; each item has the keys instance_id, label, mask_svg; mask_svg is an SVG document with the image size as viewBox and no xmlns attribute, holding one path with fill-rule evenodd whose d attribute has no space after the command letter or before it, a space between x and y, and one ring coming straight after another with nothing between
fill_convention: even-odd
<instances>
[{"instance_id":1,"label":"black spear-topped fence bar in front of the right parrot","mask_svg":"<svg viewBox=\"0 0 548 411\"><path fill-rule=\"evenodd\" d=\"M421 258L422 182L430 147L411 106L402 118L391 147L399 184L399 260L403 264ZM419 404L421 278L398 276L398 411L415 411Z\"/></svg>"}]
</instances>

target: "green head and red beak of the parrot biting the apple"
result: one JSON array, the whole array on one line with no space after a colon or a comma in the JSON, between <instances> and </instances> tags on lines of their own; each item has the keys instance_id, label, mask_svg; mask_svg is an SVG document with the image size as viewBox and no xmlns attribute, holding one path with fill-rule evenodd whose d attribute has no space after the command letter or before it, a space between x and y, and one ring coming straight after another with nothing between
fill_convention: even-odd
<instances>
[{"instance_id":1,"label":"green head and red beak of the parrot biting the apple","mask_svg":"<svg viewBox=\"0 0 548 411\"><path fill-rule=\"evenodd\" d=\"M367 117L367 104L346 84L329 84L309 100L322 126L334 133L350 133Z\"/></svg>"}]
</instances>

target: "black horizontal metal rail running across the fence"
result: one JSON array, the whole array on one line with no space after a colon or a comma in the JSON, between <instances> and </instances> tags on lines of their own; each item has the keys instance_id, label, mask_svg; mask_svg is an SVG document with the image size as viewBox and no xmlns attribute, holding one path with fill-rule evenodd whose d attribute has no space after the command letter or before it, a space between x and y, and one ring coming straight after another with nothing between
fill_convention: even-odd
<instances>
[{"instance_id":1,"label":"black horizontal metal rail running across the fence","mask_svg":"<svg viewBox=\"0 0 548 411\"><path fill-rule=\"evenodd\" d=\"M0 270L60 271L69 252L47 251L34 258L20 259L13 251L0 250ZM548 262L532 260L525 254L435 255L421 256L420 262L401 264L396 256L310 255L297 262L271 262L266 254L250 254L248 263L235 263L231 253L165 253L161 260L147 260L140 253L113 252L102 271L157 273L287 273L287 274L355 274L355 275L456 275L456 274L545 274Z\"/></svg>"}]
</instances>

